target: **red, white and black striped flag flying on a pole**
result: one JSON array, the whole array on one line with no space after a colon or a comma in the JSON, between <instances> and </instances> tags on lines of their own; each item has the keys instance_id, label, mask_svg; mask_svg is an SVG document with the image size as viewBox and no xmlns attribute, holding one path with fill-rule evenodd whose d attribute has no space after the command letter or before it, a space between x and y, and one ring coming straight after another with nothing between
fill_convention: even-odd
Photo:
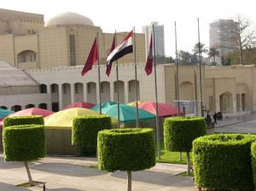
<instances>
[{"instance_id":1,"label":"red, white and black striped flag flying on a pole","mask_svg":"<svg viewBox=\"0 0 256 191\"><path fill-rule=\"evenodd\" d=\"M108 55L107 58L107 66L108 64L112 63L113 61L118 60L119 58L123 57L124 55L128 55L132 53L132 38L133 38L133 31L131 31L125 39L117 46L113 51Z\"/></svg>"}]
</instances>

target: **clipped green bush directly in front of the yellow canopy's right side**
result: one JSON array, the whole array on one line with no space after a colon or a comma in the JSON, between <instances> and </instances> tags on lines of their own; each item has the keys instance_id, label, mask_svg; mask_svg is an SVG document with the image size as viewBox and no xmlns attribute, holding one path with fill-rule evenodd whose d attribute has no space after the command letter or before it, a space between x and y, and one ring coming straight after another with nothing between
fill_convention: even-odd
<instances>
[{"instance_id":1,"label":"clipped green bush directly in front of the yellow canopy's right side","mask_svg":"<svg viewBox=\"0 0 256 191\"><path fill-rule=\"evenodd\" d=\"M75 118L72 127L72 145L84 148L87 153L95 153L98 132L111 127L111 118L106 115Z\"/></svg>"}]
</instances>

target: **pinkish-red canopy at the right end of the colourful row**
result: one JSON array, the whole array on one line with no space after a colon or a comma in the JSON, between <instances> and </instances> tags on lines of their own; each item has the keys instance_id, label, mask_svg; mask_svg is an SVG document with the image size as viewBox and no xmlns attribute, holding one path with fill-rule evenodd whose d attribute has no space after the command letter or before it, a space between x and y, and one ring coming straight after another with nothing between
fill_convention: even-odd
<instances>
[{"instance_id":1,"label":"pinkish-red canopy at the right end of the colourful row","mask_svg":"<svg viewBox=\"0 0 256 191\"><path fill-rule=\"evenodd\" d=\"M156 103L154 101L144 101L138 104L138 107L156 115ZM158 102L159 117L177 115L177 107L166 103ZM183 112L180 112L183 114Z\"/></svg>"}]
</instances>

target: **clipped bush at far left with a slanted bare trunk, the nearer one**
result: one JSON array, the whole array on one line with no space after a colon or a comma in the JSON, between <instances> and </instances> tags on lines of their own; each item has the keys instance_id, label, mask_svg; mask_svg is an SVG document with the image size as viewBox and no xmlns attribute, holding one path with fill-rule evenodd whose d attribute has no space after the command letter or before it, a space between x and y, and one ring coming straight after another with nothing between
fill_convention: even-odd
<instances>
[{"instance_id":1,"label":"clipped bush at far left with a slanted bare trunk, the nearer one","mask_svg":"<svg viewBox=\"0 0 256 191\"><path fill-rule=\"evenodd\" d=\"M32 161L45 156L44 126L23 124L3 128L6 161Z\"/></svg>"}]
</instances>

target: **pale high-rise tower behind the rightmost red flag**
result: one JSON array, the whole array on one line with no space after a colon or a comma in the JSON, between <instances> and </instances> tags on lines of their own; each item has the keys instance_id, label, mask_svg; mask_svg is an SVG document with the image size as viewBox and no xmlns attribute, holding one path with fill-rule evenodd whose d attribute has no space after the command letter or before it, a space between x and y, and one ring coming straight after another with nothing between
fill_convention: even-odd
<instances>
[{"instance_id":1,"label":"pale high-rise tower behind the rightmost red flag","mask_svg":"<svg viewBox=\"0 0 256 191\"><path fill-rule=\"evenodd\" d=\"M163 25L158 25L158 22L152 22L151 25L143 26L143 33L145 34L145 48L146 55L148 55L148 48L150 43L151 32L154 25L154 51L155 55L164 56L165 54L165 28Z\"/></svg>"}]
</instances>

